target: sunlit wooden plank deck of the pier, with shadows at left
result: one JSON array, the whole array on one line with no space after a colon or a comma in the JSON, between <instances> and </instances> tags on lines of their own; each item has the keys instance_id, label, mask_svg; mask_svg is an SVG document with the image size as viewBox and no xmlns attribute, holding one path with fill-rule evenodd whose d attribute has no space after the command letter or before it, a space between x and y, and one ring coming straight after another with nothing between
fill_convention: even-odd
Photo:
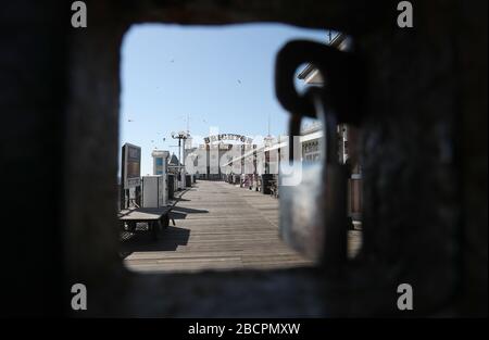
<instances>
[{"instance_id":1,"label":"sunlit wooden plank deck of the pier, with shadows at left","mask_svg":"<svg viewBox=\"0 0 489 340\"><path fill-rule=\"evenodd\" d=\"M139 234L121 244L136 272L280 268L312 263L278 236L278 200L222 181L198 181L172 213L160 240Z\"/></svg>"}]
</instances>

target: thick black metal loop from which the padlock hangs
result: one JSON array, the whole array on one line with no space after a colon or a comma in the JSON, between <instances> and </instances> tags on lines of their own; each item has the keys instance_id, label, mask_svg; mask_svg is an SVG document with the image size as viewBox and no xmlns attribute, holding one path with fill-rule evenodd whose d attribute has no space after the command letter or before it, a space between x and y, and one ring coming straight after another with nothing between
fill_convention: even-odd
<instances>
[{"instance_id":1,"label":"thick black metal loop from which the padlock hangs","mask_svg":"<svg viewBox=\"0 0 489 340\"><path fill-rule=\"evenodd\" d=\"M359 125L365 96L364 64L356 54L325 43L293 40L278 51L275 95L280 104L297 115L316 116L314 102L305 93L298 93L292 81L297 68L305 63L313 64L325 77L328 90L322 91L321 97L334 109L338 123Z\"/></svg>"}]
</instances>

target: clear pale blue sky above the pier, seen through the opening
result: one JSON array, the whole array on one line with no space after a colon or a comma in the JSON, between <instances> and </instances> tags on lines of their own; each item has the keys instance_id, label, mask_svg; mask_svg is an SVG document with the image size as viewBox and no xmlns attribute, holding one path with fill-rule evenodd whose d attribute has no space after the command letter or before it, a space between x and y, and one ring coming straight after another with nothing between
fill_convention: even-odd
<instances>
[{"instance_id":1,"label":"clear pale blue sky above the pier, seen through the opening","mask_svg":"<svg viewBox=\"0 0 489 340\"><path fill-rule=\"evenodd\" d=\"M133 26L121 56L120 142L141 147L141 175L152 172L151 150L178 154L172 131L208 136L286 134L287 112L274 93L274 63L291 39L326 40L326 30L281 24ZM165 138L165 141L163 141ZM201 140L195 140L201 143Z\"/></svg>"}]
</instances>

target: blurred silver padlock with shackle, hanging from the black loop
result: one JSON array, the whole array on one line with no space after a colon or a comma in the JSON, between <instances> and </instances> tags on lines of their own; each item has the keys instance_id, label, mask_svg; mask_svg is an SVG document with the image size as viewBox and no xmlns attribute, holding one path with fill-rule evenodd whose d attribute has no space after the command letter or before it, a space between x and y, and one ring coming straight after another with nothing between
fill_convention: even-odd
<instances>
[{"instance_id":1,"label":"blurred silver padlock with shackle, hanging from the black loop","mask_svg":"<svg viewBox=\"0 0 489 340\"><path fill-rule=\"evenodd\" d=\"M279 172L279 229L286 243L335 272L347 259L348 168L339 164L336 117L319 91L308 93L323 126L318 162L298 158L301 116L290 118L289 163Z\"/></svg>"}]
</instances>

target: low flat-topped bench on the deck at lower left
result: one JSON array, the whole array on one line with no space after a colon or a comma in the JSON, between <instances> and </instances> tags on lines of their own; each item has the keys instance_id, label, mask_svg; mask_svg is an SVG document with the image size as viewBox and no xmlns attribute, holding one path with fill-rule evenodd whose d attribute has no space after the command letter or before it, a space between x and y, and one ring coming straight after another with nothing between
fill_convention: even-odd
<instances>
[{"instance_id":1,"label":"low flat-topped bench on the deck at lower left","mask_svg":"<svg viewBox=\"0 0 489 340\"><path fill-rule=\"evenodd\" d=\"M155 240L159 239L160 232L170 224L170 212L173 206L164 207L131 207L118 212L117 217L121 227L128 226L130 232L136 232L137 223L147 223L148 231L153 235ZM174 222L175 223L175 222Z\"/></svg>"}]
</instances>

